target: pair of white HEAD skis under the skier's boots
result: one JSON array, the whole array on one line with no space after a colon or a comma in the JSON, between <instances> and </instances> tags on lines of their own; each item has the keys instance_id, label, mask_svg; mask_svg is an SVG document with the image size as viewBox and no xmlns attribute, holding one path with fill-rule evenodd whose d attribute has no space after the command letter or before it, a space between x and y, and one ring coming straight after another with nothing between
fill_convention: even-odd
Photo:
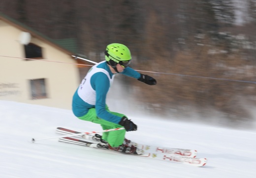
<instances>
[{"instance_id":1,"label":"pair of white HEAD skis under the skier's boots","mask_svg":"<svg viewBox=\"0 0 256 178\"><path fill-rule=\"evenodd\" d=\"M78 132L78 131L63 128L63 127L58 127L56 129L56 132L60 134L70 134L70 137L59 138L60 142L77 144L77 145L91 147L91 148L97 148L97 144L99 143L97 141L99 139L96 139L96 135L92 135L92 134L75 135L75 138L74 138L74 137L71 137L72 134L81 134L82 132ZM196 150L158 147L158 146L143 145L143 144L137 144L137 143L136 143L136 147L137 149L142 150L143 154L132 154L132 155L150 157L150 158L169 161L169 162L177 162L177 163L182 163L182 164L191 165L195 167L202 167L207 163L206 158L196 157L196 154L197 154Z\"/></svg>"}]
</instances>

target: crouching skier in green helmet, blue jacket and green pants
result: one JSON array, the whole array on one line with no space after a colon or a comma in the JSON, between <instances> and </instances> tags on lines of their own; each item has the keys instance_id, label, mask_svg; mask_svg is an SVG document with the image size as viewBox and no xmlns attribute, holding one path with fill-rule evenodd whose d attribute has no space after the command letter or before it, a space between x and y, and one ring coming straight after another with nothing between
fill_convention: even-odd
<instances>
[{"instance_id":1,"label":"crouching skier in green helmet, blue jacket and green pants","mask_svg":"<svg viewBox=\"0 0 256 178\"><path fill-rule=\"evenodd\" d=\"M155 85L157 81L128 67L131 53L125 45L108 45L105 60L93 66L82 80L73 96L72 111L79 119L100 124L103 129L125 127L123 130L103 132L97 147L138 154L136 147L125 139L126 131L135 131L137 126L124 114L110 111L106 104L106 95L114 76L118 73L131 76L148 85Z\"/></svg>"}]
</instances>

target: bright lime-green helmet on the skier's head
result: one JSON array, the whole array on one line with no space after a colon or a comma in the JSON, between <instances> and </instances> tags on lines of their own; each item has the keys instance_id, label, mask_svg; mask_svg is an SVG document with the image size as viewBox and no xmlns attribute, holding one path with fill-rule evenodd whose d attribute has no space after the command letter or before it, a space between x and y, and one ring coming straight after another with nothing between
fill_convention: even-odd
<instances>
[{"instance_id":1,"label":"bright lime-green helmet on the skier's head","mask_svg":"<svg viewBox=\"0 0 256 178\"><path fill-rule=\"evenodd\" d=\"M106 48L105 59L114 69L117 64L120 64L123 67L128 67L131 60L131 54L127 46L119 43L112 43Z\"/></svg>"}]
</instances>

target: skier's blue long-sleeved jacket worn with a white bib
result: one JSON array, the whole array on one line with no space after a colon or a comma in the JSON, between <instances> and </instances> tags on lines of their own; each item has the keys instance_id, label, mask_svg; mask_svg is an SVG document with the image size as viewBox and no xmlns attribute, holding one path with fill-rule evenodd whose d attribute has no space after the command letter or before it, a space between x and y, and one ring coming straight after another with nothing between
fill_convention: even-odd
<instances>
[{"instance_id":1,"label":"skier's blue long-sleeved jacket worn with a white bib","mask_svg":"<svg viewBox=\"0 0 256 178\"><path fill-rule=\"evenodd\" d=\"M98 69L94 69L95 67ZM96 70L96 72L93 70ZM101 70L103 72L98 72L99 70ZM87 96L83 96L78 92L79 87L82 87L82 85L85 83L84 80L89 75L89 72L93 72L94 74L89 77L90 81L88 81L88 82L90 82L90 83L88 83L88 85L90 85L90 86L88 87L88 85L86 85L87 86L86 89L88 90L88 88L89 88L89 90L90 90L90 88L92 88L92 92L94 92L96 95L95 96L96 102L91 102L91 103L86 102ZM110 84L111 84L110 80L112 80L114 78L114 75L110 71L110 69L107 65L107 62L104 61L104 62L100 62L100 63L96 64L94 67L92 67L89 70L89 72L85 76L84 80L82 80L80 86L78 87L78 89L76 90L76 92L73 96L72 111L73 111L74 115L76 117L81 117L81 116L86 115L90 108L96 108L97 117L104 119L106 121L118 124L120 122L121 118L107 112L105 109L106 96L107 96L107 92L109 91ZM134 77L137 79L140 77L140 74L130 67L125 68L124 71L120 74L123 74L126 76L131 76L131 77Z\"/></svg>"}]
</instances>

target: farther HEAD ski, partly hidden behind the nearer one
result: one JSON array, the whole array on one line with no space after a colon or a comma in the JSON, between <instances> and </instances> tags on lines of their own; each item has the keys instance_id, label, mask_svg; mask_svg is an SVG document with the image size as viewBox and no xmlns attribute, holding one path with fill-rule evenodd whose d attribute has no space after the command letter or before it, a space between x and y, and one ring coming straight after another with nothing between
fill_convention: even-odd
<instances>
[{"instance_id":1,"label":"farther HEAD ski, partly hidden behind the nearer one","mask_svg":"<svg viewBox=\"0 0 256 178\"><path fill-rule=\"evenodd\" d=\"M63 127L57 127L56 132L61 133L61 134L79 134L79 133L82 133L82 132L79 132L79 131L70 130L70 129L63 128ZM97 134L96 135L89 135L89 134L78 135L76 137L84 138L84 139L87 139L87 140L94 140L94 141L99 140L99 138L97 138ZM140 150L144 150L144 151L150 152L150 153L177 154L177 155L180 155L180 156L187 156L187 157L193 157L193 158L196 157L196 154L197 154L196 150L190 150L190 149L158 147L158 146L143 145L143 144L137 144L137 143L133 143L133 145L135 145Z\"/></svg>"}]
</instances>

